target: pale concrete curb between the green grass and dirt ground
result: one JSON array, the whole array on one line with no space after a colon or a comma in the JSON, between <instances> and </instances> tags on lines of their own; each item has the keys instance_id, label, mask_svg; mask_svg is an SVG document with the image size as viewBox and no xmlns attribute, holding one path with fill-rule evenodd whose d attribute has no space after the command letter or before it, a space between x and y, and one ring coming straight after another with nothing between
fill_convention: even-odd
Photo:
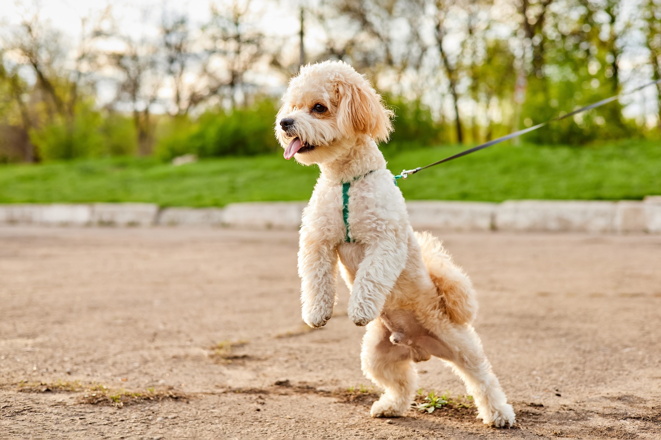
<instances>
[{"instance_id":1,"label":"pale concrete curb between the green grass and dirt ground","mask_svg":"<svg viewBox=\"0 0 661 440\"><path fill-rule=\"evenodd\" d=\"M307 202L165 208L151 203L4 204L0 224L46 226L230 226L297 229ZM410 201L416 229L661 234L661 196L644 201Z\"/></svg>"}]
</instances>

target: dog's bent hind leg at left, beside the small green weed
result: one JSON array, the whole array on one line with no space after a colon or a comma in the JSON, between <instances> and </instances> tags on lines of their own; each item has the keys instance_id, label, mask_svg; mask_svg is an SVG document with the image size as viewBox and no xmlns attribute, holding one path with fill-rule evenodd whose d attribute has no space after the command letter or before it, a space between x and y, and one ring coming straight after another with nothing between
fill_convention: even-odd
<instances>
[{"instance_id":1,"label":"dog's bent hind leg at left, beside the small green weed","mask_svg":"<svg viewBox=\"0 0 661 440\"><path fill-rule=\"evenodd\" d=\"M367 326L360 354L363 373L378 387L385 389L372 404L372 417L399 417L410 407L418 373L411 360L411 350L393 344L388 330L380 319Z\"/></svg>"}]
</instances>

